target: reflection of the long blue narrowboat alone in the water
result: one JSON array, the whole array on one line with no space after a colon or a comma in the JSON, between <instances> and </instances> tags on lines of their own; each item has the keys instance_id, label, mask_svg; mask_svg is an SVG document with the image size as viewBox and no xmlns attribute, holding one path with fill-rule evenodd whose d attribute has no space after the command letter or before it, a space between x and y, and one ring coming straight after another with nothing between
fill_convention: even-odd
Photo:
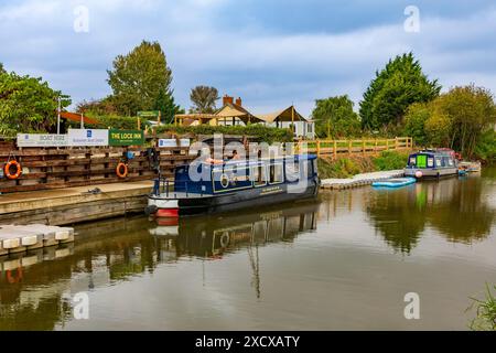
<instances>
[{"instance_id":1,"label":"reflection of the long blue narrowboat alone in the water","mask_svg":"<svg viewBox=\"0 0 496 353\"><path fill-rule=\"evenodd\" d=\"M316 228L319 205L308 203L265 212L242 212L227 216L163 218L150 234L168 240L176 256L216 258L242 246L269 242L291 242L299 233Z\"/></svg>"}]
</instances>

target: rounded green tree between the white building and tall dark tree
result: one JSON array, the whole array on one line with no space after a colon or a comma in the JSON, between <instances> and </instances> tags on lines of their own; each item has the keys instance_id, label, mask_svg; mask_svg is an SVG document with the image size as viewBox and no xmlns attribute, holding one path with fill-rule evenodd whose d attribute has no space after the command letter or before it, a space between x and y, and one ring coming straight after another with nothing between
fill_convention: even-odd
<instances>
[{"instance_id":1,"label":"rounded green tree between the white building and tall dark tree","mask_svg":"<svg viewBox=\"0 0 496 353\"><path fill-rule=\"evenodd\" d=\"M334 139L359 135L360 121L353 105L347 95L315 100L312 117L316 135Z\"/></svg>"}]
</instances>

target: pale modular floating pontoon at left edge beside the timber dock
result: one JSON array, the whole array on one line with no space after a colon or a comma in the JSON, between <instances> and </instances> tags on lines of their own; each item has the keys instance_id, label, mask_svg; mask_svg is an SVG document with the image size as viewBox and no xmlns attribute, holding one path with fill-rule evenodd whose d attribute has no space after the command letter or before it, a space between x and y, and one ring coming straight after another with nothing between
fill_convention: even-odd
<instances>
[{"instance_id":1,"label":"pale modular floating pontoon at left edge beside the timber dock","mask_svg":"<svg viewBox=\"0 0 496 353\"><path fill-rule=\"evenodd\" d=\"M74 242L74 228L44 224L0 225L0 256Z\"/></svg>"}]
</instances>

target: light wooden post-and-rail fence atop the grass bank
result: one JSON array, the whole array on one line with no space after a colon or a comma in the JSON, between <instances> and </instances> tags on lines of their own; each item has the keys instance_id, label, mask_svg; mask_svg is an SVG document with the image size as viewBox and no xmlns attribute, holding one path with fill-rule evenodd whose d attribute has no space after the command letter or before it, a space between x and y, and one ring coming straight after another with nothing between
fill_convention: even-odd
<instances>
[{"instance_id":1,"label":"light wooden post-and-rail fence atop the grass bank","mask_svg":"<svg viewBox=\"0 0 496 353\"><path fill-rule=\"evenodd\" d=\"M306 151L319 157L338 158L351 154L377 154L381 151L406 150L413 147L411 137L395 139L362 139L362 140L314 140L298 142L296 150L302 151L306 143Z\"/></svg>"}]
</instances>

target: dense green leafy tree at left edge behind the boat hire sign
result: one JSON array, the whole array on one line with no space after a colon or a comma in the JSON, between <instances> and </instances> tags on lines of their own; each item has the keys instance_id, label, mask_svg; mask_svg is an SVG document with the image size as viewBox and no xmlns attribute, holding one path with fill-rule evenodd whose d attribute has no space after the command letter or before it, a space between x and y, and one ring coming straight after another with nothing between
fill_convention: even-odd
<instances>
[{"instance_id":1,"label":"dense green leafy tree at left edge behind the boat hire sign","mask_svg":"<svg viewBox=\"0 0 496 353\"><path fill-rule=\"evenodd\" d=\"M62 107L71 105L68 96L50 88L42 78L0 73L0 135L46 132L55 129L57 97Z\"/></svg>"}]
</instances>

